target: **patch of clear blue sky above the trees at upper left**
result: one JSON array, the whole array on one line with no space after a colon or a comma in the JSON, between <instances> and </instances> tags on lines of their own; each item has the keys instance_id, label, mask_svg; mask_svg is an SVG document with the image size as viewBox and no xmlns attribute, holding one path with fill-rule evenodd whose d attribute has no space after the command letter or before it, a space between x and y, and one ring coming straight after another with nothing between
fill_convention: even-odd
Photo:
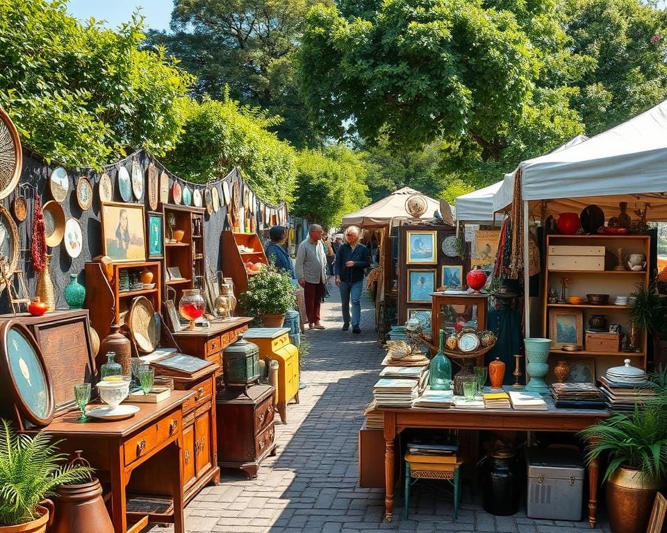
<instances>
[{"instance_id":1,"label":"patch of clear blue sky above the trees at upper left","mask_svg":"<svg viewBox=\"0 0 667 533\"><path fill-rule=\"evenodd\" d=\"M106 20L106 26L116 28L119 24L129 21L132 12L141 7L146 17L147 28L166 30L172 15L172 0L71 0L67 12L77 19Z\"/></svg>"}]
</instances>

